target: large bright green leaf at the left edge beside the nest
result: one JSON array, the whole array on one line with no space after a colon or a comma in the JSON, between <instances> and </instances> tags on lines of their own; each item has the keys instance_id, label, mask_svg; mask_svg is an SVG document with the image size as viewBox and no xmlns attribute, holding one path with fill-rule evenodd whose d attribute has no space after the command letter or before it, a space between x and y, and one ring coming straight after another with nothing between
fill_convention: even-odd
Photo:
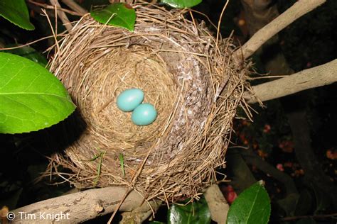
<instances>
[{"instance_id":1,"label":"large bright green leaf at the left edge beside the nest","mask_svg":"<svg viewBox=\"0 0 337 224\"><path fill-rule=\"evenodd\" d=\"M67 118L75 105L63 84L24 57L0 52L0 133L26 133Z\"/></svg>"}]
</instances>

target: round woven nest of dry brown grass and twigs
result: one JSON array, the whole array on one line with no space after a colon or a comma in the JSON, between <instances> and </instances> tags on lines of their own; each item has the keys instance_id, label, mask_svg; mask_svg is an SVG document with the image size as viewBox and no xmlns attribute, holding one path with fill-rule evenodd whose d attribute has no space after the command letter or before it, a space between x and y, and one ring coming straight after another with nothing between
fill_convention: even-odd
<instances>
[{"instance_id":1,"label":"round woven nest of dry brown grass and twigs","mask_svg":"<svg viewBox=\"0 0 337 224\"><path fill-rule=\"evenodd\" d=\"M86 128L54 155L53 167L71 169L64 178L80 189L132 186L148 200L196 198L225 166L247 66L232 62L230 39L216 40L203 22L184 18L188 11L134 8L133 33L86 15L55 47L50 71ZM134 125L117 108L117 96L130 88L142 89L158 111L151 125Z\"/></svg>"}]
</instances>

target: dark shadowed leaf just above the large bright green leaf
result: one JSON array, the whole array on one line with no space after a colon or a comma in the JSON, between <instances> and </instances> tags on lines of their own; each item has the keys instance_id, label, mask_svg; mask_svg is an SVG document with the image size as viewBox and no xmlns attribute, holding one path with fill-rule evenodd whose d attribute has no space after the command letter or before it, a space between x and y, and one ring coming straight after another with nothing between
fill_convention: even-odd
<instances>
[{"instance_id":1,"label":"dark shadowed leaf just above the large bright green leaf","mask_svg":"<svg viewBox=\"0 0 337 224\"><path fill-rule=\"evenodd\" d=\"M16 46L17 45L9 45L6 47L16 47ZM41 55L41 53L36 51L33 47L22 46L11 50L4 50L4 52L26 57L29 60L32 60L33 62L40 64L42 67L46 67L46 65L48 64L46 57L43 57L43 55Z\"/></svg>"}]
</instances>

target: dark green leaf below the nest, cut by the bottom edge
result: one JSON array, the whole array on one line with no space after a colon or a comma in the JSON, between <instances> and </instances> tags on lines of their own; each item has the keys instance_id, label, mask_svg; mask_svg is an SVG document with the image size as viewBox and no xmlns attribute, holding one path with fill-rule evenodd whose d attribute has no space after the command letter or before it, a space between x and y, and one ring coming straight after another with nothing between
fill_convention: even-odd
<instances>
[{"instance_id":1,"label":"dark green leaf below the nest, cut by the bottom edge","mask_svg":"<svg viewBox=\"0 0 337 224\"><path fill-rule=\"evenodd\" d=\"M205 198L201 198L199 201L193 203L188 203L186 206L173 204L167 215L167 223L210 223L210 211Z\"/></svg>"}]
</instances>

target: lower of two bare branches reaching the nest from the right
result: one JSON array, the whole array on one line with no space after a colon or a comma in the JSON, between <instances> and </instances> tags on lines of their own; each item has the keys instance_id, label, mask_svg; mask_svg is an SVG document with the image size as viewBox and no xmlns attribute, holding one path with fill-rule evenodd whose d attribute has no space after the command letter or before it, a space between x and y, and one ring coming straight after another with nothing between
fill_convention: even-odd
<instances>
[{"instance_id":1,"label":"lower of two bare branches reaching the nest from the right","mask_svg":"<svg viewBox=\"0 0 337 224\"><path fill-rule=\"evenodd\" d=\"M337 82L337 60L311 69L289 75L282 79L252 86L252 92L245 92L244 98L247 103L269 101L282 96L294 94L305 89L311 89Z\"/></svg>"}]
</instances>

